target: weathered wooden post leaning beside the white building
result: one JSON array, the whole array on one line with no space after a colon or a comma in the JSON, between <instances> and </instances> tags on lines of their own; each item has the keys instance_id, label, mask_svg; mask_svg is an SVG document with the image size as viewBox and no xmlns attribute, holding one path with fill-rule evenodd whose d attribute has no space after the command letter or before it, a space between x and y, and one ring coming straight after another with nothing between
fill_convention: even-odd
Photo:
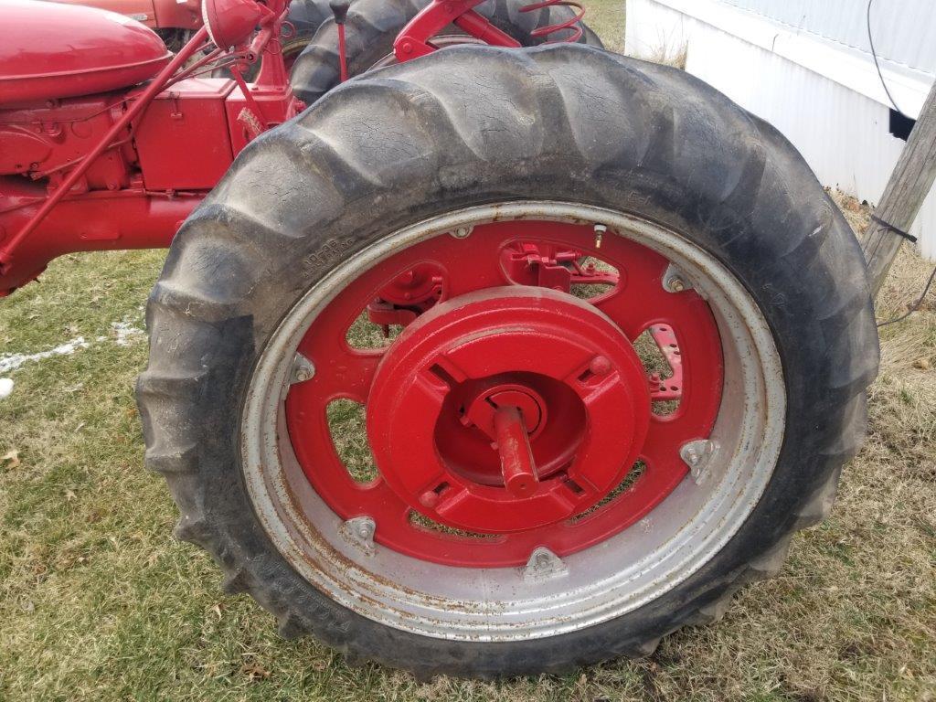
<instances>
[{"instance_id":1,"label":"weathered wooden post leaning beside the white building","mask_svg":"<svg viewBox=\"0 0 936 702\"><path fill-rule=\"evenodd\" d=\"M887 271L936 181L936 84L929 91L897 167L890 174L861 248L868 262L871 290L877 297Z\"/></svg>"}]
</instances>

